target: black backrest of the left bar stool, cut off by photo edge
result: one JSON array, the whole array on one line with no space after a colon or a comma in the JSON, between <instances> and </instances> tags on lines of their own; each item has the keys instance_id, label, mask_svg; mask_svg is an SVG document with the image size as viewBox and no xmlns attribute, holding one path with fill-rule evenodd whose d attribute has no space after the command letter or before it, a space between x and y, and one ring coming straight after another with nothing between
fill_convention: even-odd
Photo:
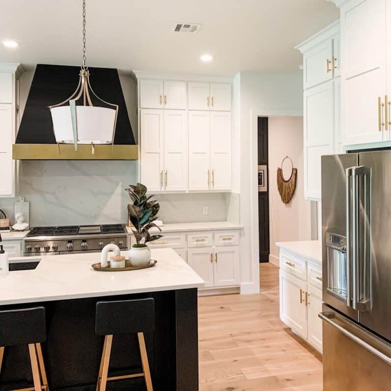
<instances>
[{"instance_id":1,"label":"black backrest of the left bar stool, cut off by photo edge","mask_svg":"<svg viewBox=\"0 0 391 391\"><path fill-rule=\"evenodd\" d=\"M0 346L34 344L45 340L44 307L0 311Z\"/></svg>"}]
</instances>

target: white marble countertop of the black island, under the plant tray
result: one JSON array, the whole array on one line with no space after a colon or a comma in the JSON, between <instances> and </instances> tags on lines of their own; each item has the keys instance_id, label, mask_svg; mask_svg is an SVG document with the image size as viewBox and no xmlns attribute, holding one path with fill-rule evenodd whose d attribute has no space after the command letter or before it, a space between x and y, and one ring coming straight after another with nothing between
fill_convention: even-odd
<instances>
[{"instance_id":1,"label":"white marble countertop of the black island, under the plant tray","mask_svg":"<svg viewBox=\"0 0 391 391\"><path fill-rule=\"evenodd\" d=\"M202 278L172 248L152 249L151 256L157 260L151 268L113 272L91 267L100 262L100 253L41 257L34 270L0 277L0 305L204 287ZM29 258L23 261L34 261Z\"/></svg>"}]
</instances>

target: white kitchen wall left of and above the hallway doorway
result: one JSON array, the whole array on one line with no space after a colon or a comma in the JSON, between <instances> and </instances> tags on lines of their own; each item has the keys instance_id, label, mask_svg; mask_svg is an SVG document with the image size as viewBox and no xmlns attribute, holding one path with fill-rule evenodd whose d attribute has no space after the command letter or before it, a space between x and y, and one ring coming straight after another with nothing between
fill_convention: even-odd
<instances>
[{"instance_id":1,"label":"white kitchen wall left of and above the hallway doorway","mask_svg":"<svg viewBox=\"0 0 391 391\"><path fill-rule=\"evenodd\" d=\"M235 76L237 78L238 75ZM302 72L240 73L241 292L259 292L257 119L302 116Z\"/></svg>"}]
</instances>

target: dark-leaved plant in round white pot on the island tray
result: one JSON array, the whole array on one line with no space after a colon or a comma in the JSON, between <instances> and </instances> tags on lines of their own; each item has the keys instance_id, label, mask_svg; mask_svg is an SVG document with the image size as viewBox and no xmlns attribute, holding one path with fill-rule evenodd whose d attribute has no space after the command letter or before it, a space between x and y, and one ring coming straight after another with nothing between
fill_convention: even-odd
<instances>
[{"instance_id":1,"label":"dark-leaved plant in round white pot on the island tray","mask_svg":"<svg viewBox=\"0 0 391 391\"><path fill-rule=\"evenodd\" d=\"M136 239L136 244L133 244L129 250L129 260L132 266L144 266L151 260L151 250L147 246L148 242L160 239L163 235L151 235L149 230L156 227L161 229L153 222L157 219L157 213L160 205L157 200L152 200L154 194L147 197L147 186L142 183L129 185L125 189L129 193L132 204L128 204L128 214L130 222L134 229L132 232Z\"/></svg>"}]
</instances>

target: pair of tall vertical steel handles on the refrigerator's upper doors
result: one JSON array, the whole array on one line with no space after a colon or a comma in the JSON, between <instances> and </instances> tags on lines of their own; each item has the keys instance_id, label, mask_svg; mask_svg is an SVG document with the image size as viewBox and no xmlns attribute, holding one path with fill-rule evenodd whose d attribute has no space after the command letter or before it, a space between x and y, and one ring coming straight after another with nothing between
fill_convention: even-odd
<instances>
[{"instance_id":1,"label":"pair of tall vertical steel handles on the refrigerator's upper doors","mask_svg":"<svg viewBox=\"0 0 391 391\"><path fill-rule=\"evenodd\" d=\"M358 177L364 178L364 251L362 270L359 262L359 214L360 197L358 189ZM352 178L352 194L350 197L350 178ZM350 199L352 201L350 201ZM350 214L352 209L352 215ZM350 221L352 225L350 227ZM346 260L347 260L347 305L354 310L368 311L370 309L370 222L371 222L371 169L365 166L355 166L346 169ZM362 274L362 278L361 278ZM364 282L364 297L361 300L361 280ZM352 286L351 284L352 283Z\"/></svg>"}]
</instances>

